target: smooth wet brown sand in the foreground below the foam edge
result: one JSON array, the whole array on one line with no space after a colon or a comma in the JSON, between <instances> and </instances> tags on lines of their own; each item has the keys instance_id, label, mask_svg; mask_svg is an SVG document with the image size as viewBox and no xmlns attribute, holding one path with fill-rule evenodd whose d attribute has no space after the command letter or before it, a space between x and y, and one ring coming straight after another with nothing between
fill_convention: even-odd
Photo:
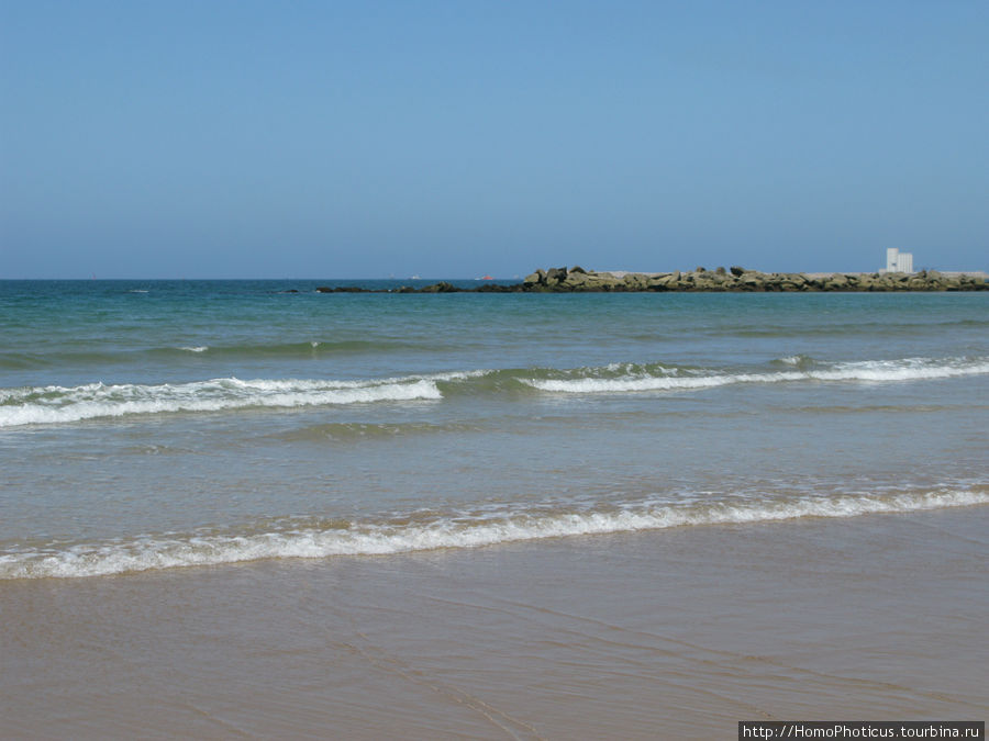
<instances>
[{"instance_id":1,"label":"smooth wet brown sand in the foreground below the foam edge","mask_svg":"<svg viewBox=\"0 0 989 741\"><path fill-rule=\"evenodd\" d=\"M3 738L989 715L989 507L0 583Z\"/></svg>"}]
</instances>

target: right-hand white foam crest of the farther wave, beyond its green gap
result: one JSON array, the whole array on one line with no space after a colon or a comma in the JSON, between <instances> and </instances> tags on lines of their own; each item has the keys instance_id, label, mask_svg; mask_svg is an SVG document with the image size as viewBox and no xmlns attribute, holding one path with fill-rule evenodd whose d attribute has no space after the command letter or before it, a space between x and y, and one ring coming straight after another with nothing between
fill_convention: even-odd
<instances>
[{"instance_id":1,"label":"right-hand white foam crest of the farther wave, beyond its green gap","mask_svg":"<svg viewBox=\"0 0 989 741\"><path fill-rule=\"evenodd\" d=\"M794 358L782 362L793 364ZM896 382L948 379L962 375L989 373L985 358L932 360L907 358L903 360L868 360L834 363L830 368L787 370L770 373L699 373L697 371L668 371L668 374L636 374L620 378L577 379L520 379L541 391L560 393L618 393L629 391L674 391L712 389L736 383L786 383L796 381L852 381Z\"/></svg>"}]
</instances>

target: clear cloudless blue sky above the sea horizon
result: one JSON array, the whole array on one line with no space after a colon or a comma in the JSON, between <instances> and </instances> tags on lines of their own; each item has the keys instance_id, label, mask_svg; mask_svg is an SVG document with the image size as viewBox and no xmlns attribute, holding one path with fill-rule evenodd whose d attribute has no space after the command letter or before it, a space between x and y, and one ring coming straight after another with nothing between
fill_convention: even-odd
<instances>
[{"instance_id":1,"label":"clear cloudless blue sky above the sea horizon","mask_svg":"<svg viewBox=\"0 0 989 741\"><path fill-rule=\"evenodd\" d=\"M0 279L989 269L989 3L0 0Z\"/></svg>"}]
</instances>

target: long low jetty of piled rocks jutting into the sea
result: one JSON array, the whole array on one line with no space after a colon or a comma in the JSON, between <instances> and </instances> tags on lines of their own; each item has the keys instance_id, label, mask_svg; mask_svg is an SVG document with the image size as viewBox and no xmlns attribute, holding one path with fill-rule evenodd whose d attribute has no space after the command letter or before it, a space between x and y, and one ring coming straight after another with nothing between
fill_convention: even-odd
<instances>
[{"instance_id":1,"label":"long low jetty of piled rocks jutting into the sea","mask_svg":"<svg viewBox=\"0 0 989 741\"><path fill-rule=\"evenodd\" d=\"M903 272L759 272L734 266L674 272L596 272L580 267L536 270L521 283L482 283L460 288L441 281L423 288L398 289L320 287L321 293L778 293L778 292L890 292L890 291L987 291L985 274L953 273L936 270Z\"/></svg>"}]
</instances>

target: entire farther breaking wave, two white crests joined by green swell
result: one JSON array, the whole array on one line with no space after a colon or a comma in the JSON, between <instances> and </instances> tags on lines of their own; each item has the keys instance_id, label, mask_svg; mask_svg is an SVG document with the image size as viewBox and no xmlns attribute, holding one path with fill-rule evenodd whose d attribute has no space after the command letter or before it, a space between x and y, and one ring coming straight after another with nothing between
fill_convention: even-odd
<instances>
[{"instance_id":1,"label":"entire farther breaking wave, two white crests joined by green swell","mask_svg":"<svg viewBox=\"0 0 989 741\"><path fill-rule=\"evenodd\" d=\"M185 350L199 352L201 348L189 347ZM27 386L0 389L0 428L168 412L438 401L463 395L702 391L754 383L890 383L985 373L989 373L989 358L907 358L824 362L805 356L792 356L743 371L658 363L612 363L569 370L554 368L474 370L355 381L304 379L243 381L225 378L153 385L89 383L78 386Z\"/></svg>"}]
</instances>

